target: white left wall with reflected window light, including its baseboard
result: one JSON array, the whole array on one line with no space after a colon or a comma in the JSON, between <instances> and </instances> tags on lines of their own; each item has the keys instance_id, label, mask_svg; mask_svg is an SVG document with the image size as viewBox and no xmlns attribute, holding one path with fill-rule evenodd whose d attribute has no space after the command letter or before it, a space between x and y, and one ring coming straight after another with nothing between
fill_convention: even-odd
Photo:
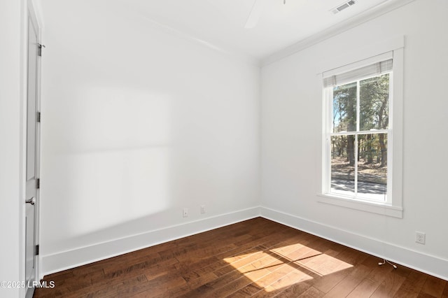
<instances>
[{"instance_id":1,"label":"white left wall with reflected window light, including its baseboard","mask_svg":"<svg viewBox=\"0 0 448 298\"><path fill-rule=\"evenodd\" d=\"M41 274L259 214L260 68L118 2L42 1Z\"/></svg>"}]
</instances>

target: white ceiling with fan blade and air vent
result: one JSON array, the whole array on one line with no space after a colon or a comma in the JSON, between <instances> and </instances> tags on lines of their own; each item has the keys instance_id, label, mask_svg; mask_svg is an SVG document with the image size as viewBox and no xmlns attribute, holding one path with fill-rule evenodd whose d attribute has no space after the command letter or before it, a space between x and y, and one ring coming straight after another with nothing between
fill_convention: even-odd
<instances>
[{"instance_id":1,"label":"white ceiling with fan blade and air vent","mask_svg":"<svg viewBox=\"0 0 448 298\"><path fill-rule=\"evenodd\" d=\"M255 0L127 0L148 19L226 51L262 59L367 10L396 0L356 0L334 14L344 0L266 0L258 24L244 24ZM128 6L128 8L129 8Z\"/></svg>"}]
</instances>

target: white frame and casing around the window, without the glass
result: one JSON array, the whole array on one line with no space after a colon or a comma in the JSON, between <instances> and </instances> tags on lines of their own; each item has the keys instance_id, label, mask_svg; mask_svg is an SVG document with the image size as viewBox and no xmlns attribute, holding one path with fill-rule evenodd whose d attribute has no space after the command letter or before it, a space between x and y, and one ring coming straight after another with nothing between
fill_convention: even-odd
<instances>
[{"instance_id":1,"label":"white frame and casing around the window, without the glass","mask_svg":"<svg viewBox=\"0 0 448 298\"><path fill-rule=\"evenodd\" d=\"M322 148L318 170L318 180L321 181L318 189L318 201L325 204L342 206L346 208L388 215L395 218L402 218L402 101L403 101L403 50L404 36L392 38L391 40L370 45L365 50L360 49L337 59L324 62L318 71L319 94L322 97ZM346 197L328 191L329 175L328 170L330 150L327 140L329 113L331 106L328 105L328 94L325 94L323 87L323 73L328 76L329 70L336 73L343 73L351 69L357 69L362 66L378 62L391 52L393 57L393 75L389 79L391 85L391 94L389 100L389 127L388 127L388 177L387 177L387 200L371 201ZM325 104L326 103L326 104Z\"/></svg>"}]
</instances>

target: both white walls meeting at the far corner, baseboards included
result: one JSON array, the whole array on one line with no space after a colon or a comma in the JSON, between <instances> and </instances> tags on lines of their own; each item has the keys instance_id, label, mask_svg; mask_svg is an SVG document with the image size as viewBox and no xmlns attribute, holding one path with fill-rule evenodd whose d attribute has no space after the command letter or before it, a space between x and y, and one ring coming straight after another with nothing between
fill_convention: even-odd
<instances>
[{"instance_id":1,"label":"both white walls meeting at the far corner, baseboards included","mask_svg":"<svg viewBox=\"0 0 448 298\"><path fill-rule=\"evenodd\" d=\"M265 66L261 82L258 67L116 1L42 2L41 275L256 216L261 204L267 218L448 278L446 1L414 1ZM403 218L318 203L316 65L403 34Z\"/></svg>"}]
</instances>

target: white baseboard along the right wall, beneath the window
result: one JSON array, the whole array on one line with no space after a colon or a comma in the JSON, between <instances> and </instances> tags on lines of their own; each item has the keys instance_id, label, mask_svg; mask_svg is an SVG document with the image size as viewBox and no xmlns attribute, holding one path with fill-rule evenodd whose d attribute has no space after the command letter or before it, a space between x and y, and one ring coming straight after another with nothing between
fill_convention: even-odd
<instances>
[{"instance_id":1,"label":"white baseboard along the right wall, beneath the window","mask_svg":"<svg viewBox=\"0 0 448 298\"><path fill-rule=\"evenodd\" d=\"M323 225L318 222L313 222L304 218L299 218L295 215L283 213L270 208L260 207L261 217L279 222L288 227L300 229L303 232L319 236L323 239L363 251L370 255L376 255L379 258L385 258L391 262L401 264L402 266L416 269L418 271L442 278L448 281L448 260L432 255L409 250L395 246L391 243L386 243L378 239L372 239L360 234L353 234L352 232Z\"/></svg>"}]
</instances>

